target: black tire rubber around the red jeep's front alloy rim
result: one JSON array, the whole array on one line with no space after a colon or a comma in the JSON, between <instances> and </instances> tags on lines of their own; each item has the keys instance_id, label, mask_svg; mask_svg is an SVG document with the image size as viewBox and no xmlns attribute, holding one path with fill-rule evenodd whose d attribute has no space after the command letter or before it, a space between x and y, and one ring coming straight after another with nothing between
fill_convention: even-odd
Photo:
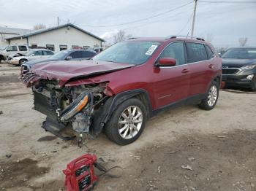
<instances>
[{"instance_id":1,"label":"black tire rubber around the red jeep's front alloy rim","mask_svg":"<svg viewBox=\"0 0 256 191\"><path fill-rule=\"evenodd\" d=\"M129 106L136 106L140 109L140 112L142 113L142 124L140 126L140 130L138 130L138 133L133 136L131 139L124 139L118 132L118 120L121 117L121 114L129 108ZM110 117L110 120L105 126L105 134L108 136L108 139L115 142L119 145L126 145L131 144L132 142L136 141L141 133L143 132L143 129L145 128L147 120L147 114L146 114L146 107L144 104L138 100L137 98L130 98L127 101L124 101L118 107L116 108L115 112L113 112L112 116Z\"/></svg>"}]
</instances>

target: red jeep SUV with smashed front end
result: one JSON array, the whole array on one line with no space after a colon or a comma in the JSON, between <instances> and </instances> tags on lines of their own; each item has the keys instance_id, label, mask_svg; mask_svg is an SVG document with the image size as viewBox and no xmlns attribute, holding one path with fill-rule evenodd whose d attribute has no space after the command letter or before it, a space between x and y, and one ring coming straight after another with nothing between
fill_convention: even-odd
<instances>
[{"instance_id":1,"label":"red jeep SUV with smashed front end","mask_svg":"<svg viewBox=\"0 0 256 191\"><path fill-rule=\"evenodd\" d=\"M138 139L162 109L213 109L221 78L211 44L177 36L130 38L91 60L38 64L21 77L33 90L34 109L47 116L45 130L59 136L69 128L83 137L104 129L120 145Z\"/></svg>"}]
</instances>

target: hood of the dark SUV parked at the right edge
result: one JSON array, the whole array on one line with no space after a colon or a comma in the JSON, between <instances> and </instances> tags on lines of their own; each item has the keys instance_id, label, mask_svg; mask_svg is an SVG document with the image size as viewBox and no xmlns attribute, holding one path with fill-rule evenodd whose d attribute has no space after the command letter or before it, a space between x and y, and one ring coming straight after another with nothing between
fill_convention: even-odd
<instances>
[{"instance_id":1,"label":"hood of the dark SUV parked at the right edge","mask_svg":"<svg viewBox=\"0 0 256 191\"><path fill-rule=\"evenodd\" d=\"M256 59L222 58L222 66L242 67L256 64Z\"/></svg>"}]
</instances>

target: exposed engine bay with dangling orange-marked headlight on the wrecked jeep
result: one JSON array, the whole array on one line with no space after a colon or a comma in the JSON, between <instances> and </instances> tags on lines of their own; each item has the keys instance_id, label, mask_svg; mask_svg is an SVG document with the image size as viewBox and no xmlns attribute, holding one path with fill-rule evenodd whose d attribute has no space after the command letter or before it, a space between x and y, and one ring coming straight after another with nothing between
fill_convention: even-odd
<instances>
[{"instance_id":1,"label":"exposed engine bay with dangling orange-marked headlight on the wrecked jeep","mask_svg":"<svg viewBox=\"0 0 256 191\"><path fill-rule=\"evenodd\" d=\"M94 117L105 114L103 107L109 96L104 91L107 82L97 85L59 87L56 80L40 79L32 86L34 109L55 120L62 126L71 126L79 134L79 144L84 133L97 135L101 127L93 128ZM58 124L57 123L57 124Z\"/></svg>"}]
</instances>

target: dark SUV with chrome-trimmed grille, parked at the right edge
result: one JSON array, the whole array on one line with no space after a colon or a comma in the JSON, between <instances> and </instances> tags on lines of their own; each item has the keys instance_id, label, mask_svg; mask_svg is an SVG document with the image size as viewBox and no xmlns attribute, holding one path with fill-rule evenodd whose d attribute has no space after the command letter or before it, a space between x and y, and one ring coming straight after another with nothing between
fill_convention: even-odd
<instances>
[{"instance_id":1,"label":"dark SUV with chrome-trimmed grille, parked at the right edge","mask_svg":"<svg viewBox=\"0 0 256 191\"><path fill-rule=\"evenodd\" d=\"M249 87L256 91L256 47L234 47L222 55L225 87Z\"/></svg>"}]
</instances>

